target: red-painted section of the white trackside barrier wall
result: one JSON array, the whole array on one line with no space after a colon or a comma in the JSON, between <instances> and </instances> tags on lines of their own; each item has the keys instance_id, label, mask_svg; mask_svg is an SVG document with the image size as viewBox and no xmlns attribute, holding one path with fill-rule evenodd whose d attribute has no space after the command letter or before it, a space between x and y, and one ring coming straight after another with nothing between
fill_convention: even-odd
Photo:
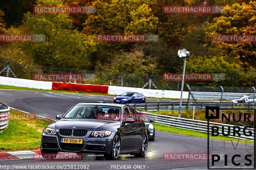
<instances>
[{"instance_id":1,"label":"red-painted section of the white trackside barrier wall","mask_svg":"<svg viewBox=\"0 0 256 170\"><path fill-rule=\"evenodd\" d=\"M108 94L108 86L107 85L90 85L90 84L53 82L52 90L68 90L68 91Z\"/></svg>"}]
</instances>

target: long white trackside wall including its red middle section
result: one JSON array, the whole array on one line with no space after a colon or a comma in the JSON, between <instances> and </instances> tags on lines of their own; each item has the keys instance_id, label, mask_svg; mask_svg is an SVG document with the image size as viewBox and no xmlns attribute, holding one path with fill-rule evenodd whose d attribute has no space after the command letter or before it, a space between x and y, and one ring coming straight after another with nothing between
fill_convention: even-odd
<instances>
[{"instance_id":1,"label":"long white trackside wall including its red middle section","mask_svg":"<svg viewBox=\"0 0 256 170\"><path fill-rule=\"evenodd\" d=\"M142 89L135 87L121 87L121 86L106 86L106 85L88 85L88 84L74 84L74 83L59 83L48 81L36 81L22 78L9 78L0 76L0 85L12 85L17 87L28 87L44 90L69 90L69 91L83 91L83 92L100 92L105 94L119 95L124 92L139 92L146 97L156 98L180 98L180 91L174 90L154 90ZM72 88L70 87L72 85ZM76 87L76 88L74 88ZM188 92L183 92L183 99L188 99Z\"/></svg>"}]
</instances>

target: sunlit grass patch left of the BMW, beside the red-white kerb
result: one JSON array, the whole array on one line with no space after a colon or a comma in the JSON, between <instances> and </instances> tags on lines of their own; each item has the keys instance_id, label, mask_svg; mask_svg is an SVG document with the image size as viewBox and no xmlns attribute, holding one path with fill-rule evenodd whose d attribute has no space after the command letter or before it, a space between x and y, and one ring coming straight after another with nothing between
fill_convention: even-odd
<instances>
[{"instance_id":1,"label":"sunlit grass patch left of the BMW, beside the red-white kerb","mask_svg":"<svg viewBox=\"0 0 256 170\"><path fill-rule=\"evenodd\" d=\"M10 117L27 115L11 110ZM51 120L36 117L36 120L9 120L9 126L0 130L0 152L40 149L41 134Z\"/></svg>"}]
</instances>

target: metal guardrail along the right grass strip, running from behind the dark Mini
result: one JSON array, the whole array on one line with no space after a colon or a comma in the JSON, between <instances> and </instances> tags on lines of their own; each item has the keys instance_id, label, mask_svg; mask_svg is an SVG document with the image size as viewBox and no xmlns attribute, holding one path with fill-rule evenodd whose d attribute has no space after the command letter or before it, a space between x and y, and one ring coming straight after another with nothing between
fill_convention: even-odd
<instances>
[{"instance_id":1,"label":"metal guardrail along the right grass strip, running from behind the dark Mini","mask_svg":"<svg viewBox=\"0 0 256 170\"><path fill-rule=\"evenodd\" d=\"M199 120L193 120L193 119L186 119L186 118L179 118L179 117L173 117L173 116L166 116L166 115L157 115L154 113L148 113L144 112L148 116L149 119L154 119L155 123L161 123L164 125L181 128L181 129L189 129L199 132L207 133L207 122L206 121L199 121ZM218 126L219 131L222 130L222 127L224 127L224 131L227 131L228 128L230 128L230 134L233 134L233 126L229 124L223 124L223 123L216 123L216 122L209 122L209 131L212 130L211 126ZM244 129L244 126L239 126L241 130ZM238 139L254 139L254 129L253 128L247 128L245 132L248 134L249 131L252 131L251 136L245 136L243 133L241 133L241 137L233 137ZM222 135L220 133L220 135Z\"/></svg>"}]
</instances>

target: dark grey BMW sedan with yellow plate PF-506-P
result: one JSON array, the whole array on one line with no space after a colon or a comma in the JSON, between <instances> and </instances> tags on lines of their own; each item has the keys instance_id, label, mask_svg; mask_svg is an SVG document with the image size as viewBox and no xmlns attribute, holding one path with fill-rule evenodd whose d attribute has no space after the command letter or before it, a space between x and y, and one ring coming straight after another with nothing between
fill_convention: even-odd
<instances>
[{"instance_id":1,"label":"dark grey BMW sedan with yellow plate PF-506-P","mask_svg":"<svg viewBox=\"0 0 256 170\"><path fill-rule=\"evenodd\" d=\"M104 154L117 159L119 154L145 157L147 127L135 109L125 104L79 103L65 115L56 115L41 137L41 154L58 152Z\"/></svg>"}]
</instances>

